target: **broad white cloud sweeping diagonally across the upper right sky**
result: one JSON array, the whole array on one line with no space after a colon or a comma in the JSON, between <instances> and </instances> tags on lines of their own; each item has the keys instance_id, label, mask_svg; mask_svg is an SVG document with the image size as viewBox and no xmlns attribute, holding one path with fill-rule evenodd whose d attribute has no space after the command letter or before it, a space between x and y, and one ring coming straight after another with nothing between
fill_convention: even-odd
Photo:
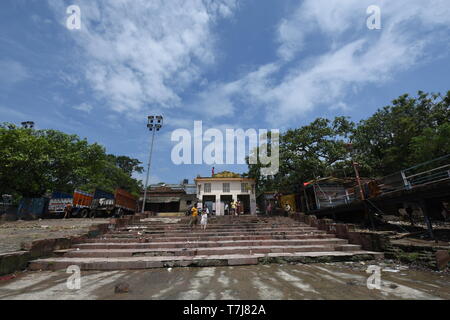
<instances>
[{"instance_id":1,"label":"broad white cloud sweeping diagonally across the upper right sky","mask_svg":"<svg viewBox=\"0 0 450 320\"><path fill-rule=\"evenodd\" d=\"M227 102L225 110L235 110L233 101L240 97L259 108L256 112L265 112L270 124L295 123L321 107L348 110L345 100L355 90L383 84L433 59L430 48L436 44L448 46L448 1L380 0L380 31L366 27L371 4L371 0L303 1L279 24L279 60L231 83L214 84L200 101L219 96ZM305 57L313 42L316 47L321 42L323 50ZM237 89L227 92L230 85Z\"/></svg>"}]
</instances>

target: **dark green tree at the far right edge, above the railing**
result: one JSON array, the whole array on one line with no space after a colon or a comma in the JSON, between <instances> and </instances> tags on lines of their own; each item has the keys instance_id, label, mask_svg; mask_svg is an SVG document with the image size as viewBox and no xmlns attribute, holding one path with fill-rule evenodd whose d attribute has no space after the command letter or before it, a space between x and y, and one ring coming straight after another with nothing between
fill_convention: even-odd
<instances>
[{"instance_id":1,"label":"dark green tree at the far right edge, above the railing","mask_svg":"<svg viewBox=\"0 0 450 320\"><path fill-rule=\"evenodd\" d=\"M450 153L450 91L445 97L419 91L359 123L352 140L362 174L384 176Z\"/></svg>"}]
</instances>

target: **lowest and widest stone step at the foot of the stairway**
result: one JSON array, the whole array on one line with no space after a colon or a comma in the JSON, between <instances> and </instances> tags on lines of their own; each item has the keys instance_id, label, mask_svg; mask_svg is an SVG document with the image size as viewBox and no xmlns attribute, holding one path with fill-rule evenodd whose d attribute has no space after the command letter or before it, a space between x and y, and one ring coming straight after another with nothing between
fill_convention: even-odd
<instances>
[{"instance_id":1,"label":"lowest and widest stone step at the foot of the stairway","mask_svg":"<svg viewBox=\"0 0 450 320\"><path fill-rule=\"evenodd\" d=\"M295 253L235 254L210 256L158 256L127 258L49 258L30 262L29 270L61 270L77 265L81 270L134 270L164 267L207 267L280 263L282 261L313 263L380 259L382 253L370 251L320 251Z\"/></svg>"}]
</instances>

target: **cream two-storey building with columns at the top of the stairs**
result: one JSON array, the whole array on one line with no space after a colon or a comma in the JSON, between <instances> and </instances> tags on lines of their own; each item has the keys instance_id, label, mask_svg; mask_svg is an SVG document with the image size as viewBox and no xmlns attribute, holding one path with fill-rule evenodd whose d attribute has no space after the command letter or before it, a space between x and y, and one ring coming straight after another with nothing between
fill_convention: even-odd
<instances>
[{"instance_id":1,"label":"cream two-storey building with columns at the top of the stairs","mask_svg":"<svg viewBox=\"0 0 450 320\"><path fill-rule=\"evenodd\" d=\"M197 198L216 215L224 215L225 206L240 201L244 214L256 215L255 180L232 172L195 179Z\"/></svg>"}]
</instances>

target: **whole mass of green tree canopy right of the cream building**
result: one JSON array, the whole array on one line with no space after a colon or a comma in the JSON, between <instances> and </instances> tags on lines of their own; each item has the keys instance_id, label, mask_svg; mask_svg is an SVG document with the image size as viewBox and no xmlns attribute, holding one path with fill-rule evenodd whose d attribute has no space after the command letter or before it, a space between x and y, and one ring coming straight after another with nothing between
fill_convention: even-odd
<instances>
[{"instance_id":1,"label":"whole mass of green tree canopy right of the cream building","mask_svg":"<svg viewBox=\"0 0 450 320\"><path fill-rule=\"evenodd\" d=\"M262 177L256 164L246 176L256 179L258 192L298 192L314 178L353 176L353 158L362 176L382 177L450 154L449 137L450 91L446 96L420 91L417 97L400 96L358 124L346 117L318 118L290 129L280 135L278 174Z\"/></svg>"}]
</instances>

